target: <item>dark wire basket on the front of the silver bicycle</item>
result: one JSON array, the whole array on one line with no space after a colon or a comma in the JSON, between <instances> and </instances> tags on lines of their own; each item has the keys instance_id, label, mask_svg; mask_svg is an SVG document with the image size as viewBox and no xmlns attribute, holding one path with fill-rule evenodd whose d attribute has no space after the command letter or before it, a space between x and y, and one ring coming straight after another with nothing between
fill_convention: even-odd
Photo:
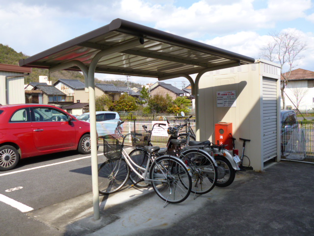
<instances>
[{"instance_id":1,"label":"dark wire basket on the front of the silver bicycle","mask_svg":"<svg viewBox=\"0 0 314 236\"><path fill-rule=\"evenodd\" d=\"M123 144L112 135L105 135L104 138L104 155L110 161L119 160L122 156Z\"/></svg>"}]
</instances>

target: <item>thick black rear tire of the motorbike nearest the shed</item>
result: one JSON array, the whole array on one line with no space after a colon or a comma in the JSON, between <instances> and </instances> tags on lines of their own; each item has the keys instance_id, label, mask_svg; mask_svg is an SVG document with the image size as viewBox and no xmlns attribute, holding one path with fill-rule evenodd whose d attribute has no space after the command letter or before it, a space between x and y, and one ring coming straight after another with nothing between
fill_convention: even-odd
<instances>
[{"instance_id":1,"label":"thick black rear tire of the motorbike nearest the shed","mask_svg":"<svg viewBox=\"0 0 314 236\"><path fill-rule=\"evenodd\" d=\"M222 167L225 170L225 176L217 179L216 186L227 187L235 180L235 169L232 167L230 161L224 156L218 155L214 158L218 167Z\"/></svg>"}]
</instances>

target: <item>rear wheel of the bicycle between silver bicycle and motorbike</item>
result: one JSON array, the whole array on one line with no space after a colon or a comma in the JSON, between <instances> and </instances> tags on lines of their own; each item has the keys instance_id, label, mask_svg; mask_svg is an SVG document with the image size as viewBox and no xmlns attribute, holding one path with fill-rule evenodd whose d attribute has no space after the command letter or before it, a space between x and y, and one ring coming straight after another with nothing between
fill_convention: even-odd
<instances>
[{"instance_id":1,"label":"rear wheel of the bicycle between silver bicycle and motorbike","mask_svg":"<svg viewBox=\"0 0 314 236\"><path fill-rule=\"evenodd\" d=\"M199 149L187 149L181 153L180 159L191 168L192 193L205 194L215 187L218 172L207 152L200 152Z\"/></svg>"}]
</instances>

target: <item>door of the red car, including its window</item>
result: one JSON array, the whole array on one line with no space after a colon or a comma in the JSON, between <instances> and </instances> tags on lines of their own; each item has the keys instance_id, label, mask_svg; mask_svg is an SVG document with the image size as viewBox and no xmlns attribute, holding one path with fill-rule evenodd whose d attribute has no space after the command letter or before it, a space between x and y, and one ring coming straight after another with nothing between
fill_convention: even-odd
<instances>
[{"instance_id":1,"label":"door of the red car, including its window","mask_svg":"<svg viewBox=\"0 0 314 236\"><path fill-rule=\"evenodd\" d=\"M32 112L33 139L38 150L73 149L76 140L75 122L68 122L67 115L57 109L36 107L32 108Z\"/></svg>"}]
</instances>

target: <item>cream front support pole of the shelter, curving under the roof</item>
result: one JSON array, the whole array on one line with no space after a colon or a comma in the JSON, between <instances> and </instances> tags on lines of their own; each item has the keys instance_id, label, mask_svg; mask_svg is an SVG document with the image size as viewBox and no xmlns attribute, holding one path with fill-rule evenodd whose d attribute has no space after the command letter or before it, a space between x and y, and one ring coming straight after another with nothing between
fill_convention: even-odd
<instances>
[{"instance_id":1,"label":"cream front support pole of the shelter, curving under the roof","mask_svg":"<svg viewBox=\"0 0 314 236\"><path fill-rule=\"evenodd\" d=\"M96 105L95 105L95 70L98 61L105 55L121 52L140 45L138 38L112 48L100 51L95 55L88 69L88 91L89 91L89 118L90 118L90 138L91 138L91 163L92 163L92 187L93 187L93 207L94 219L100 218L99 188L98 188L98 160L97 160L97 131L96 131Z\"/></svg>"}]
</instances>

